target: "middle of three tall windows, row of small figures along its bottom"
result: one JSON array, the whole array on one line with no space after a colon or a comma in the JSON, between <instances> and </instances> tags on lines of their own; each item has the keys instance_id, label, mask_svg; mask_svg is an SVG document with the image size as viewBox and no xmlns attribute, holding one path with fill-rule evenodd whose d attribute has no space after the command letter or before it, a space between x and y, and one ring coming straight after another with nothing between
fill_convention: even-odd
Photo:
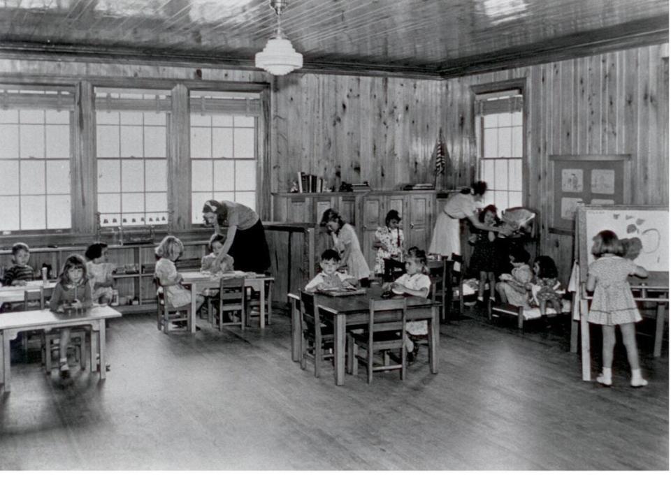
<instances>
[{"instance_id":1,"label":"middle of three tall windows, row of small figures along its bottom","mask_svg":"<svg viewBox=\"0 0 671 477\"><path fill-rule=\"evenodd\" d=\"M96 88L101 226L168 223L169 94Z\"/></svg>"}]
</instances>

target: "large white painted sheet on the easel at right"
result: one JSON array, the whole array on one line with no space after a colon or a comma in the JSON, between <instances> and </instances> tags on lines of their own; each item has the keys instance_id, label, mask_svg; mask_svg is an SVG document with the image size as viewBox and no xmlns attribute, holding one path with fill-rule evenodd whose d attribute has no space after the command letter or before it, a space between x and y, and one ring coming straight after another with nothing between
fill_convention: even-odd
<instances>
[{"instance_id":1,"label":"large white painted sheet on the easel at right","mask_svg":"<svg viewBox=\"0 0 671 477\"><path fill-rule=\"evenodd\" d=\"M669 210L655 205L581 205L577 210L576 237L580 281L587 279L592 238L612 230L626 246L627 258L651 274L669 271Z\"/></svg>"}]
</instances>

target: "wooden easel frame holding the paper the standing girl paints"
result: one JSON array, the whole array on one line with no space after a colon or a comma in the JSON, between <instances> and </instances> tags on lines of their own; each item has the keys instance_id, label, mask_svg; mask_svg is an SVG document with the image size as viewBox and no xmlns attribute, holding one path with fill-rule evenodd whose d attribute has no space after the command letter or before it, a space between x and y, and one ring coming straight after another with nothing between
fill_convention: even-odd
<instances>
[{"instance_id":1,"label":"wooden easel frame holding the paper the standing girl paints","mask_svg":"<svg viewBox=\"0 0 671 477\"><path fill-rule=\"evenodd\" d=\"M577 306L572 307L572 319L575 320L575 314L578 314L580 321L580 341L581 341L581 360L582 360L582 380L591 381L591 355L589 346L589 323L587 316L589 314L589 301L592 299L591 295L587 293L587 270L589 267L589 258L591 257L591 245L593 235L596 235L593 230L588 230L588 221L591 211L598 212L613 212L613 214L627 217L628 215L635 216L637 212L644 214L661 214L660 221L656 221L659 226L663 226L668 230L668 208L658 207L654 205L583 205L578 207L575 221L575 235L574 235L574 251L579 266L579 287L577 289ZM593 227L592 227L593 228ZM607 228L607 225L604 226ZM597 230L598 232L599 230ZM616 230L615 230L616 231ZM617 231L616 231L617 233ZM591 235L588 237L588 235ZM623 238L619 234L620 238ZM662 241L661 247L668 247L668 240ZM637 260L635 260L637 262ZM668 260L665 263L658 263L656 265L641 264L646 267L649 275L645 279L637 277L630 277L630 286L634 295L634 300L637 302L656 302L656 329L655 329L655 344L654 357L661 355L662 337L664 332L664 322L666 320L665 311L669 303L669 272ZM655 270L656 269L656 270ZM573 328L573 327L572 327ZM571 335L571 351L577 351L575 339L576 334L572 332Z\"/></svg>"}]
</instances>

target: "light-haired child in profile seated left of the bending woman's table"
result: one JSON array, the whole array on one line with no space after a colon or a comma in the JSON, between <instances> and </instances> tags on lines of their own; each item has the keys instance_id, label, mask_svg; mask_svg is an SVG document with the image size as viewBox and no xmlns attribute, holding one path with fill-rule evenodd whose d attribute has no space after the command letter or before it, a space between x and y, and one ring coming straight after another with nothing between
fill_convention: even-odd
<instances>
[{"instance_id":1,"label":"light-haired child in profile seated left of the bending woman's table","mask_svg":"<svg viewBox=\"0 0 671 477\"><path fill-rule=\"evenodd\" d=\"M161 243L154 249L154 254L159 259L156 263L154 277L164 288L166 302L173 308L184 307L191 303L191 292L182 285L182 275L175 267L175 260L180 258L184 252L182 241L174 235L166 235ZM205 298L196 295L196 310L198 310Z\"/></svg>"}]
</instances>

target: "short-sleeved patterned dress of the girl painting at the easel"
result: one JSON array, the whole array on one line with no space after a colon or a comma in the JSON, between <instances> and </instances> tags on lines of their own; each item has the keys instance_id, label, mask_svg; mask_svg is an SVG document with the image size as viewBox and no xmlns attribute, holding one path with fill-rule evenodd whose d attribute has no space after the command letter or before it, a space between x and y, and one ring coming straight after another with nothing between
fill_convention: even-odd
<instances>
[{"instance_id":1,"label":"short-sleeved patterned dress of the girl painting at the easel","mask_svg":"<svg viewBox=\"0 0 671 477\"><path fill-rule=\"evenodd\" d=\"M598 325L621 325L641 321L627 277L636 271L628 258L601 257L589 265L596 286L587 321Z\"/></svg>"}]
</instances>

